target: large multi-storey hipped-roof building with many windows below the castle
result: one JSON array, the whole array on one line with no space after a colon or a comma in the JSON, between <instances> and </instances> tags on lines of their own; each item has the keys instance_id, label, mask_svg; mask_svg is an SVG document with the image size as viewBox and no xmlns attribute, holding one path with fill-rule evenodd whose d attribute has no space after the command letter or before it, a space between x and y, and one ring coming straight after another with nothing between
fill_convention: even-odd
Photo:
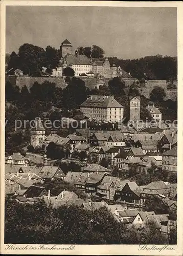
<instances>
[{"instance_id":1,"label":"large multi-storey hipped-roof building with many windows below the castle","mask_svg":"<svg viewBox=\"0 0 183 256\"><path fill-rule=\"evenodd\" d=\"M91 119L120 122L123 119L123 106L113 96L91 95L80 105L83 114Z\"/></svg>"}]
</instances>

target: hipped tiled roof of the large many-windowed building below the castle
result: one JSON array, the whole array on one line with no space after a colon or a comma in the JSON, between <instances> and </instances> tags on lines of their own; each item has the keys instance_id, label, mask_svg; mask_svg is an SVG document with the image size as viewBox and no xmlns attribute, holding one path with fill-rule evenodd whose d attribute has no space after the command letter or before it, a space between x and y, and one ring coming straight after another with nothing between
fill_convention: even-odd
<instances>
[{"instance_id":1,"label":"hipped tiled roof of the large many-windowed building below the castle","mask_svg":"<svg viewBox=\"0 0 183 256\"><path fill-rule=\"evenodd\" d=\"M123 106L112 96L91 95L81 105L88 108L123 108Z\"/></svg>"}]
</instances>

